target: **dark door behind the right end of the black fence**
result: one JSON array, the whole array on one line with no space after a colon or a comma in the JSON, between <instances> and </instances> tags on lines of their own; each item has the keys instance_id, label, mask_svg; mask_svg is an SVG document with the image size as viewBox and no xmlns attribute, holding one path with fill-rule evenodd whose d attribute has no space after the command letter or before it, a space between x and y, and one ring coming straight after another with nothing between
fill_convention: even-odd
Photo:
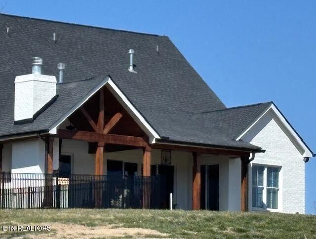
<instances>
[{"instance_id":1,"label":"dark door behind the right end of the black fence","mask_svg":"<svg viewBox=\"0 0 316 239\"><path fill-rule=\"evenodd\" d=\"M162 185L162 190L160 192L160 206L162 209L170 208L170 193L173 194L173 166L159 165L158 173L165 178L165 181L162 180L162 182L165 182L165 185Z\"/></svg>"}]
</instances>

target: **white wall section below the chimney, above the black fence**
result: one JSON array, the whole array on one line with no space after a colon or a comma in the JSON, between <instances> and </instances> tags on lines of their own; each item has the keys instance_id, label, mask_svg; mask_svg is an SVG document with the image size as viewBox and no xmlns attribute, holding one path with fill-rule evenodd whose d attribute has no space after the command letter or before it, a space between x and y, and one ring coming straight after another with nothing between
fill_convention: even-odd
<instances>
[{"instance_id":1,"label":"white wall section below the chimney, above the black fence","mask_svg":"<svg viewBox=\"0 0 316 239\"><path fill-rule=\"evenodd\" d=\"M41 139L23 140L12 143L13 173L44 173L45 143Z\"/></svg>"}]
</instances>

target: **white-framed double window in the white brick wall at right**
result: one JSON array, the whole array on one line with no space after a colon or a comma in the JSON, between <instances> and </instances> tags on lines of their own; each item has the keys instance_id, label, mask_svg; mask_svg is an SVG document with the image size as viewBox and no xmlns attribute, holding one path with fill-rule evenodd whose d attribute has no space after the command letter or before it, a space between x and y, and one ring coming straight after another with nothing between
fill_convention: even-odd
<instances>
[{"instance_id":1,"label":"white-framed double window in the white brick wall at right","mask_svg":"<svg viewBox=\"0 0 316 239\"><path fill-rule=\"evenodd\" d=\"M278 208L279 167L252 165L252 206Z\"/></svg>"}]
</instances>

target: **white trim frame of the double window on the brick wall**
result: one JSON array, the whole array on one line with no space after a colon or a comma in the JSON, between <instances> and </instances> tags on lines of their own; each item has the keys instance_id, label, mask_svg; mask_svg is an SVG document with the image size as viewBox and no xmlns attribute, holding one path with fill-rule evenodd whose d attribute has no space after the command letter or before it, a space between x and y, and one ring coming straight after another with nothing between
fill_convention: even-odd
<instances>
[{"instance_id":1,"label":"white trim frame of the double window on the brick wall","mask_svg":"<svg viewBox=\"0 0 316 239\"><path fill-rule=\"evenodd\" d=\"M263 164L263 163L251 163L251 166L258 165L264 166L263 171L263 193L262 193L262 200L264 207L253 207L252 206L252 192L249 194L249 203L251 203L251 209L253 211L269 211L269 212L282 212L282 166L281 165L272 165L272 164ZM267 175L268 169L267 167L277 167L279 168L278 173L278 192L277 192L277 209L274 208L267 208ZM251 187L252 190L252 167L251 167L251 180L249 180L249 188Z\"/></svg>"}]
</instances>

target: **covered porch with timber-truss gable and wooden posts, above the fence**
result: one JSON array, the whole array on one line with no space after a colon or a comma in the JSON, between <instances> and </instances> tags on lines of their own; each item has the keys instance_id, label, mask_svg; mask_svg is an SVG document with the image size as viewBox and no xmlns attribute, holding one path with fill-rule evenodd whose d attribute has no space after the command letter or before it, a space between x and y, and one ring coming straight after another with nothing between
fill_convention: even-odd
<instances>
[{"instance_id":1,"label":"covered porch with timber-truss gable and wooden posts, above the fence","mask_svg":"<svg viewBox=\"0 0 316 239\"><path fill-rule=\"evenodd\" d=\"M177 208L228 210L229 165L234 165L231 166L231 174L232 170L236 170L236 164L240 165L237 169L240 172L237 173L240 175L239 205L240 210L247 210L250 150L169 143L163 138L155 139L153 131L141 116L137 116L128 100L108 84L57 127L54 140L59 140L59 154L68 153L73 157L71 173L162 175L166 182L163 186L166 192L160 196L164 198L161 199L163 208L170 207L169 194L172 193L172 204ZM52 166L49 166L52 164L49 162L53 158L52 153L47 152L47 165L51 168L48 173L52 172ZM215 178L211 176L209 165L218 165ZM217 180L218 186L214 189L217 192L211 192L211 180ZM211 203L214 205L210 206ZM144 208L150 208L150 205L144 204Z\"/></svg>"}]
</instances>

